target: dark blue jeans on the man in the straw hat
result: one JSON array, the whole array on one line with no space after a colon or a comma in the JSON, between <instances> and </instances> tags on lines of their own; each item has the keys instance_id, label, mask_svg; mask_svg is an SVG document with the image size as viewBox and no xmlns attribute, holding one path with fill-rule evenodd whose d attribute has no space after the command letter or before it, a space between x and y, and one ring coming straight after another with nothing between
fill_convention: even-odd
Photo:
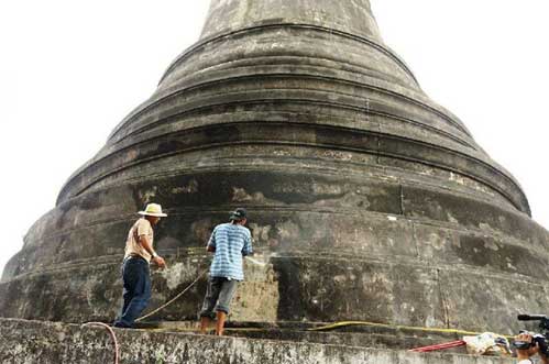
<instances>
[{"instance_id":1,"label":"dark blue jeans on the man in the straw hat","mask_svg":"<svg viewBox=\"0 0 549 364\"><path fill-rule=\"evenodd\" d=\"M141 257L128 257L122 265L124 306L114 321L117 328L133 328L136 318L151 299L149 263Z\"/></svg>"}]
</instances>

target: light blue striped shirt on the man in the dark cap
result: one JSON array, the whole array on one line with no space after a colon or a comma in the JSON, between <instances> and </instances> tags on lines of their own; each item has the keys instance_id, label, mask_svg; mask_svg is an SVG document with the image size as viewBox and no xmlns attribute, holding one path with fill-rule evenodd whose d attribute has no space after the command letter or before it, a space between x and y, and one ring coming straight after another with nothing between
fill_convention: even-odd
<instances>
[{"instance_id":1,"label":"light blue striped shirt on the man in the dark cap","mask_svg":"<svg viewBox=\"0 0 549 364\"><path fill-rule=\"evenodd\" d=\"M252 234L248 228L233 223L217 225L208 246L216 250L210 266L210 277L244 280L242 256L252 254Z\"/></svg>"}]
</instances>

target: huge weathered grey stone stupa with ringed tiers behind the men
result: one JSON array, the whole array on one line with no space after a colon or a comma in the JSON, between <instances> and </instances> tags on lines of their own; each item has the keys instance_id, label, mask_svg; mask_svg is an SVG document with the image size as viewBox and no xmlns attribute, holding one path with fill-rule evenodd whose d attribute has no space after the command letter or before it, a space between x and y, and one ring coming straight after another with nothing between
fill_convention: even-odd
<instances>
[{"instance_id":1,"label":"huge weathered grey stone stupa with ringed tiers behind the men","mask_svg":"<svg viewBox=\"0 0 549 364\"><path fill-rule=\"evenodd\" d=\"M509 333L549 301L548 232L383 43L367 0L212 0L199 42L31 228L1 315L114 318L125 235L149 201L169 212L151 307L207 267L211 228L240 206L268 264L248 264L234 322ZM156 319L195 320L204 291Z\"/></svg>"}]
</instances>

